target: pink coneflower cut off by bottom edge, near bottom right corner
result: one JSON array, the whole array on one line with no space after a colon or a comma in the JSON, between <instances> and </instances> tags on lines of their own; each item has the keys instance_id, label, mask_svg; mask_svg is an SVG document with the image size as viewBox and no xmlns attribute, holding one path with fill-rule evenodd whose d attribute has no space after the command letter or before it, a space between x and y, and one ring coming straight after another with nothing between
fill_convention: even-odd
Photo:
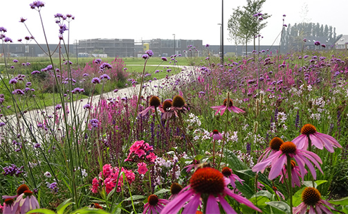
<instances>
[{"instance_id":1,"label":"pink coneflower cut off by bottom edge, near bottom right corner","mask_svg":"<svg viewBox=\"0 0 348 214\"><path fill-rule=\"evenodd\" d=\"M306 187L302 192L302 203L293 209L293 213L306 213L309 206L309 214L322 213L322 211L331 214L332 212L324 205L336 211L329 202L321 199L320 192L316 188Z\"/></svg>"}]
</instances>

